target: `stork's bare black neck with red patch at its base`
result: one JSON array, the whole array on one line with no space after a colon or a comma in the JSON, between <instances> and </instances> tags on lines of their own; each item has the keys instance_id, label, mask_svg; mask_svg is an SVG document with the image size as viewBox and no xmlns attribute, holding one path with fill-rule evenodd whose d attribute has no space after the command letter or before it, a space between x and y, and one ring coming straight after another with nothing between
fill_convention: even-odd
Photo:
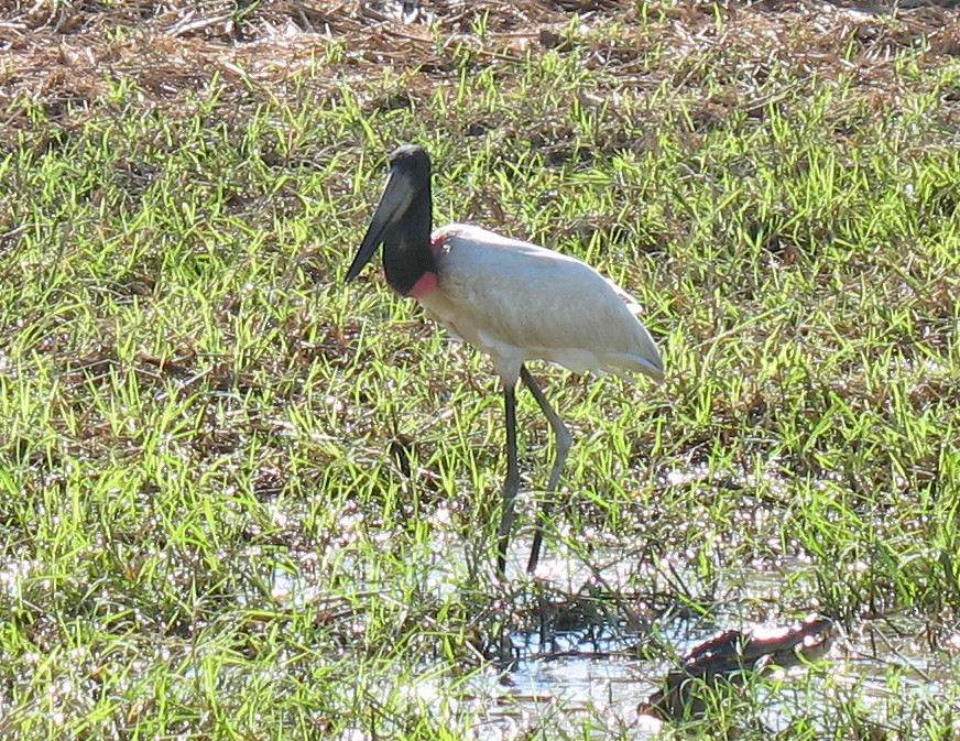
<instances>
[{"instance_id":1,"label":"stork's bare black neck with red patch at its base","mask_svg":"<svg viewBox=\"0 0 960 741\"><path fill-rule=\"evenodd\" d=\"M437 287L437 260L430 244L429 188L422 190L383 239L383 272L401 296L419 298Z\"/></svg>"}]
</instances>

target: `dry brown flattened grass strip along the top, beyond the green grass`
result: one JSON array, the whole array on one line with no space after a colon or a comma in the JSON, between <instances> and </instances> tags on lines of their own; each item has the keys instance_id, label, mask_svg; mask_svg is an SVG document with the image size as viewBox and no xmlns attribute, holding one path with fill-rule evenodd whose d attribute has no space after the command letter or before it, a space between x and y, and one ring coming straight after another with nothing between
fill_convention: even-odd
<instances>
[{"instance_id":1,"label":"dry brown flattened grass strip along the top, beyond the green grass","mask_svg":"<svg viewBox=\"0 0 960 741\"><path fill-rule=\"evenodd\" d=\"M134 83L144 107L187 101L214 78L241 100L283 97L307 70L323 88L325 78L375 76L390 66L403 70L412 89L429 89L456 67L461 45L476 50L478 65L498 64L545 47L563 51L576 33L583 36L577 47L590 50L585 64L604 67L620 87L684 89L706 75L719 80L722 91L703 101L709 117L716 107L767 102L752 99L752 90L775 67L798 78L852 77L883 105L908 84L896 74L897 52L919 50L923 64L932 66L953 64L960 54L953 10L848 4L440 0L411 3L416 7L404 13L399 2L15 1L0 15L0 106L9 135L30 126L18 102L39 103L54 118L67 111L83 118L109 99L118 80ZM602 29L608 32L594 33ZM331 45L343 53L318 66ZM661 57L652 69L655 51ZM942 95L960 98L956 89Z\"/></svg>"}]
</instances>

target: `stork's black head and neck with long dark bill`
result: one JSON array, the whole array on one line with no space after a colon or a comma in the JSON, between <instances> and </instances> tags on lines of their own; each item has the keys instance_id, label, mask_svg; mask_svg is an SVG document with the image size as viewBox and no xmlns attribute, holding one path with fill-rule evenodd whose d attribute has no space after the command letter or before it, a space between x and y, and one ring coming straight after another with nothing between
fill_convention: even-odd
<instances>
[{"instance_id":1,"label":"stork's black head and neck with long dark bill","mask_svg":"<svg viewBox=\"0 0 960 741\"><path fill-rule=\"evenodd\" d=\"M426 273L436 273L430 250L430 157L416 144L395 149L380 205L357 250L347 280L359 275L377 248L383 244L383 268L390 285L410 295Z\"/></svg>"}]
</instances>

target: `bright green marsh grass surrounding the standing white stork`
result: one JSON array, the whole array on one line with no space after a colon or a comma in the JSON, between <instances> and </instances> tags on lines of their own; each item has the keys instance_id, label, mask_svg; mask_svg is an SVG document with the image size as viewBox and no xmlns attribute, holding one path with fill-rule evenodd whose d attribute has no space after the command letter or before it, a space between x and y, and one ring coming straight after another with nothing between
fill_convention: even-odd
<instances>
[{"instance_id":1,"label":"bright green marsh grass surrounding the standing white stork","mask_svg":"<svg viewBox=\"0 0 960 741\"><path fill-rule=\"evenodd\" d=\"M812 578L750 619L812 606L857 635L905 615L949 644L956 62L902 47L876 86L761 75L742 44L658 41L668 21L571 23L569 47L523 53L478 28L421 72L358 75L334 41L276 87L204 72L159 101L103 73L83 106L7 99L4 734L455 739L487 711L470 683L553 592L493 578L490 363L379 271L342 282L404 141L433 152L438 224L590 261L664 350L659 388L535 369L575 432L548 545L620 548L619 602L708 614L731 568L799 557ZM535 494L549 431L525 394L520 418ZM956 695L892 691L879 721L834 684L795 688L782 738L956 729ZM755 699L694 730L756 733Z\"/></svg>"}]
</instances>

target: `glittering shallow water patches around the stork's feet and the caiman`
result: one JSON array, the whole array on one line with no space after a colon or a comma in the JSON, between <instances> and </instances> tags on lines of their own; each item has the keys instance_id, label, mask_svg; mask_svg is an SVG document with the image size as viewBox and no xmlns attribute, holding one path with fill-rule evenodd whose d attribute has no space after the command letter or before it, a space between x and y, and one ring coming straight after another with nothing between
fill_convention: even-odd
<instances>
[{"instance_id":1,"label":"glittering shallow water patches around the stork's feet and the caiman","mask_svg":"<svg viewBox=\"0 0 960 741\"><path fill-rule=\"evenodd\" d=\"M428 581L440 593L456 589L456 580L462 577L449 569L448 556L460 547L455 540L437 544L437 569ZM607 595L630 596L635 591L636 558L618 558L614 551L594 551L588 564L552 545L537 578L555 587L558 598L570 596L576 603L572 598L586 596L588 603L606 608L606 602L591 597L598 585ZM528 548L528 541L514 544L509 573L523 574ZM598 568L597 564L602 566ZM696 574L685 565L670 564L668 569L684 584L698 584ZM657 566L657 570L668 569ZM659 688L668 671L680 665L683 655L719 631L755 624L761 620L759 614L774 615L770 624L777 625L801 617L784 614L792 607L785 606L782 598L787 581L790 593L816 593L809 563L781 559L776 565L724 568L721 581L711 587L717 601L702 612L676 610L664 615L641 611L635 620L624 620L624 606L611 602L608 619L603 619L601 609L599 620L597 614L588 614L580 623L569 620L571 630L558 629L559 619L553 615L553 622L545 621L538 630L510 634L503 655L512 661L491 662L469 682L457 705L476 718L474 738L481 741L651 738L663 723L642 715L639 706ZM276 576L274 589L277 595L288 595L295 603L320 599L315 589L284 574ZM530 593L522 579L520 591ZM629 607L630 598L624 597L623 602ZM536 610L531 612L535 614ZM916 638L921 633L921 625L906 617L863 622L852 634L838 628L832 647L817 668L781 672L775 676L784 677L783 684L761 686L752 698L756 715L744 718L744 723L759 719L775 731L800 718L815 724L830 718L843 722L841 707L854 698L880 723L899 712L904 699L908 700L907 707L909 702L942 702L945 698L956 704L960 698L954 687L960 676L960 635L934 651ZM656 650L648 655L637 650L651 643ZM443 678L435 677L412 691L425 700L444 697L448 694L443 683Z\"/></svg>"}]
</instances>

